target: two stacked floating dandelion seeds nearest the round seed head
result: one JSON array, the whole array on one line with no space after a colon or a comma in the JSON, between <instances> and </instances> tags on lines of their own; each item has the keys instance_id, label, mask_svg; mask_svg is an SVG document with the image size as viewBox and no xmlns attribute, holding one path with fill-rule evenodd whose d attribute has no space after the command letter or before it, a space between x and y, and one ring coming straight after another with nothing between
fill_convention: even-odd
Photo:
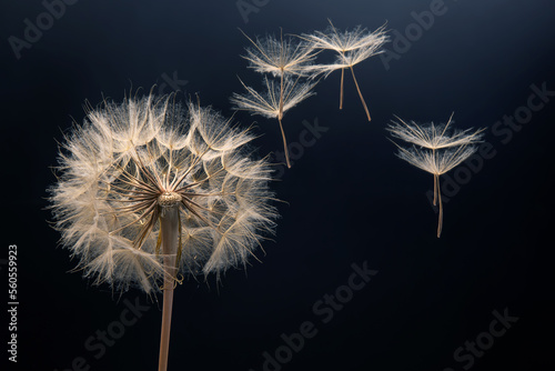
<instances>
[{"instance_id":1,"label":"two stacked floating dandelion seeds nearest the round seed head","mask_svg":"<svg viewBox=\"0 0 555 371\"><path fill-rule=\"evenodd\" d=\"M299 78L310 74L310 71L312 71L311 64L316 53L306 42L300 42L291 37L283 39L283 34L280 36L280 40L273 36L266 36L263 39L256 38L255 41L244 32L243 34L252 43L252 47L245 48L246 56L242 56L250 62L249 68L254 69L256 72L270 73L274 78L279 78L280 84L278 88L273 82L268 80L268 77L264 77L268 96L263 97L254 89L244 86L243 81L241 81L248 90L249 96L241 97L233 94L232 102L236 103L239 109L250 110L253 114L259 113L269 118L275 117L279 120L285 160L287 168L291 168L287 140L285 139L285 131L283 130L281 120L287 109L310 97L307 91L314 84L300 83ZM295 77L296 79L294 79ZM293 80L294 83L291 82ZM269 114L269 112L271 113Z\"/></svg>"}]
</instances>

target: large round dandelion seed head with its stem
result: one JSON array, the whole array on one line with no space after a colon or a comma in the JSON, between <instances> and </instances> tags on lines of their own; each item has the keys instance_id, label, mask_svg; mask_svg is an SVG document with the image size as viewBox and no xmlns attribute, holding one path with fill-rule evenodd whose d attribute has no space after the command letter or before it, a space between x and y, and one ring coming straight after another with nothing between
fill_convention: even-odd
<instances>
[{"instance_id":1,"label":"large round dandelion seed head with its stem","mask_svg":"<svg viewBox=\"0 0 555 371\"><path fill-rule=\"evenodd\" d=\"M163 291L159 370L167 370L179 277L245 264L274 228L268 161L249 130L174 96L89 109L67 136L50 189L62 244L94 283Z\"/></svg>"}]
</instances>

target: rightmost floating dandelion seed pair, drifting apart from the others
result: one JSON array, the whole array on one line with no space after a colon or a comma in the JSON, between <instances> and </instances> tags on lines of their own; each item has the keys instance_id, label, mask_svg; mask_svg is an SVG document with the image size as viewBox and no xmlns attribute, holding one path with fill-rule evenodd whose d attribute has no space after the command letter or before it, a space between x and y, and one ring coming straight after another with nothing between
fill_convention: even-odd
<instances>
[{"instance_id":1,"label":"rightmost floating dandelion seed pair, drifting apart from the others","mask_svg":"<svg viewBox=\"0 0 555 371\"><path fill-rule=\"evenodd\" d=\"M440 188L440 176L451 171L461 162L465 161L476 152L475 143L480 142L484 129L454 130L451 132L450 123L435 126L433 122L426 126L417 126L414 121L405 122L397 118L398 122L392 121L387 130L394 138L402 139L413 146L402 148L397 146L397 157L412 166L430 172L434 176L434 200L433 204L440 204L437 221L437 238L443 228L443 204Z\"/></svg>"}]
</instances>

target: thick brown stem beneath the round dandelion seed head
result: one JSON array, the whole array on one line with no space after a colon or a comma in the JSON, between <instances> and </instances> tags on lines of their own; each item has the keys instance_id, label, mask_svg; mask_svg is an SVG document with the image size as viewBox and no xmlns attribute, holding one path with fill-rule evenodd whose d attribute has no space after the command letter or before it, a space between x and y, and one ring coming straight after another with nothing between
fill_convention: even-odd
<instances>
[{"instance_id":1,"label":"thick brown stem beneath the round dandelion seed head","mask_svg":"<svg viewBox=\"0 0 555 371\"><path fill-rule=\"evenodd\" d=\"M170 329L173 307L173 285L175 282L175 254L179 244L179 210L170 207L162 210L160 215L160 230L162 233L162 253L167 274L164 277L164 298L162 307L162 330L160 333L159 371L168 370L168 353L170 350Z\"/></svg>"}]
</instances>

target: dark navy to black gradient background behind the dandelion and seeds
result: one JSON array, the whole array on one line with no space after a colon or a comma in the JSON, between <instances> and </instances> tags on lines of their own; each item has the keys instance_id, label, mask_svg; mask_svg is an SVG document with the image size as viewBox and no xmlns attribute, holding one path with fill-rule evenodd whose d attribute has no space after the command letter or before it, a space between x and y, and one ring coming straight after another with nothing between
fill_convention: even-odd
<instances>
[{"instance_id":1,"label":"dark navy to black gradient background behind the dandelion and seeds","mask_svg":"<svg viewBox=\"0 0 555 371\"><path fill-rule=\"evenodd\" d=\"M238 76L251 84L261 78L240 58L248 40L238 28L250 36L280 27L299 34L324 29L331 18L341 29L375 29L387 20L404 33L415 22L411 12L430 3L271 0L245 23L235 1L81 0L18 60L8 38L22 38L23 20L34 23L44 7L2 1L0 258L18 244L20 302L19 362L8 370L158 365L161 303L137 291L120 298L69 273L74 262L47 223L57 141L72 119L82 121L85 99L93 106L103 96L121 101L130 89L148 91L175 71L188 81L180 99L199 93L202 104L231 116L229 98L242 89ZM454 351L488 331L492 311L505 308L518 321L471 369L554 369L555 102L534 112L506 144L491 128L526 106L532 84L555 90L555 2L446 0L445 7L389 70L380 57L355 67L372 122L349 74L339 110L339 72L287 112L291 142L299 141L303 120L317 119L327 132L272 183L287 203L278 204L282 218L275 241L259 254L262 263L229 271L220 287L213 277L178 287L169 370L263 370L262 353L274 353L282 333L312 321L317 334L282 370L458 371L468 363L454 360ZM488 128L485 139L496 156L445 203L437 239L437 215L425 195L432 176L396 159L384 128L393 114L445 122L453 111L460 128ZM275 120L235 118L258 122L260 156L281 150ZM379 273L322 323L313 304L346 283L352 263L364 261ZM7 302L7 283L1 287ZM95 359L85 341L135 298L150 309ZM6 334L6 311L1 318ZM80 357L87 365L72 367Z\"/></svg>"}]
</instances>

